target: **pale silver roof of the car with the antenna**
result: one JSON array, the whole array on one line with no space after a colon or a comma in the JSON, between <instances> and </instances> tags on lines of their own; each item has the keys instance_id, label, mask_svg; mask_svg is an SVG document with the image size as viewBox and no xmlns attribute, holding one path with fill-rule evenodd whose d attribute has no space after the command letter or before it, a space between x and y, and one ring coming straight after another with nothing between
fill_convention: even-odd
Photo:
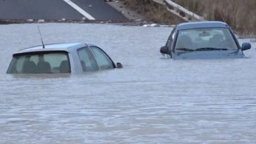
<instances>
[{"instance_id":1,"label":"pale silver roof of the car with the antenna","mask_svg":"<svg viewBox=\"0 0 256 144\"><path fill-rule=\"evenodd\" d=\"M43 45L37 45L37 46L31 46L28 48L22 48L15 52L14 54L21 54L26 52L42 52L42 51L66 51L70 52L71 48L77 48L82 46L96 46L93 43L51 43L51 44L45 44L45 48L43 48Z\"/></svg>"}]
</instances>

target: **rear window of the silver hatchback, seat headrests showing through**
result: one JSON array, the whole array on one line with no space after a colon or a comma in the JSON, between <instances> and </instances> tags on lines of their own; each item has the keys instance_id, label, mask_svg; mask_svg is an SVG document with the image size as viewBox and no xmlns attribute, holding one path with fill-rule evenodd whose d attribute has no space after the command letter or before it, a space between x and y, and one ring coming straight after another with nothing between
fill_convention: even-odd
<instances>
[{"instance_id":1,"label":"rear window of the silver hatchback, seat headrests showing through","mask_svg":"<svg viewBox=\"0 0 256 144\"><path fill-rule=\"evenodd\" d=\"M7 73L70 73L68 53L14 54Z\"/></svg>"}]
</instances>

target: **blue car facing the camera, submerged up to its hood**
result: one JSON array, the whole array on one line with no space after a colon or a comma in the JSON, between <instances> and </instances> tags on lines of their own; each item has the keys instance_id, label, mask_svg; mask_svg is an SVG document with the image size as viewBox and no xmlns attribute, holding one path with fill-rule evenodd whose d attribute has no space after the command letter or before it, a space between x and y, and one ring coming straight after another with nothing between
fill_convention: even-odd
<instances>
[{"instance_id":1,"label":"blue car facing the camera, submerged up to its hood","mask_svg":"<svg viewBox=\"0 0 256 144\"><path fill-rule=\"evenodd\" d=\"M250 43L238 43L224 22L188 22L173 28L160 52L173 59L244 58Z\"/></svg>"}]
</instances>

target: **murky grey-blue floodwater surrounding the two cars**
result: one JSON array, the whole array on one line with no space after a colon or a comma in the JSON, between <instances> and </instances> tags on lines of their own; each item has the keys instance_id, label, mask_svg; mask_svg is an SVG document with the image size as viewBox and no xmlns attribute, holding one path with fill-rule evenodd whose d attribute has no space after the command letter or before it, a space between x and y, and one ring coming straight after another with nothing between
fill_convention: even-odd
<instances>
[{"instance_id":1,"label":"murky grey-blue floodwater surrounding the two cars","mask_svg":"<svg viewBox=\"0 0 256 144\"><path fill-rule=\"evenodd\" d=\"M7 75L41 40L37 24L0 25L0 143L256 143L256 43L244 59L171 60L170 27L39 26L45 43L94 42L124 67Z\"/></svg>"}]
</instances>

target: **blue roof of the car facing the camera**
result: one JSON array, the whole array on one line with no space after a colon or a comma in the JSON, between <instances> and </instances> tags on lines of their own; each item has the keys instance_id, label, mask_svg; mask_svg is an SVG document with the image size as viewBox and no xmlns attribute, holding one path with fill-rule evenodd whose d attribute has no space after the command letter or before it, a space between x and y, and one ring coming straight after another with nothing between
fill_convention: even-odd
<instances>
[{"instance_id":1,"label":"blue roof of the car facing the camera","mask_svg":"<svg viewBox=\"0 0 256 144\"><path fill-rule=\"evenodd\" d=\"M223 27L229 28L228 24L224 22L185 22L177 26L178 30L183 29L197 29L197 28L209 28L209 27Z\"/></svg>"}]
</instances>

